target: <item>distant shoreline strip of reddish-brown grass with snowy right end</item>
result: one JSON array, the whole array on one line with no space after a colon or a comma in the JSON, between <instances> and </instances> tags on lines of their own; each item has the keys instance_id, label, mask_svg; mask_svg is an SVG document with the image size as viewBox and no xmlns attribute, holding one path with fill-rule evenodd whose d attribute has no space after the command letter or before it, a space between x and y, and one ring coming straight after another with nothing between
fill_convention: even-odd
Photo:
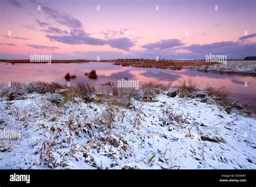
<instances>
[{"instance_id":1,"label":"distant shoreline strip of reddish-brown grass with snowy right end","mask_svg":"<svg viewBox=\"0 0 256 187\"><path fill-rule=\"evenodd\" d=\"M2 63L47 63L30 62L30 60L0 60ZM109 62L115 66L136 68L160 68L160 69L191 69L204 72L240 74L255 76L255 60L228 60L227 63L206 62L205 60L51 60L51 63L87 63L87 62Z\"/></svg>"}]
</instances>

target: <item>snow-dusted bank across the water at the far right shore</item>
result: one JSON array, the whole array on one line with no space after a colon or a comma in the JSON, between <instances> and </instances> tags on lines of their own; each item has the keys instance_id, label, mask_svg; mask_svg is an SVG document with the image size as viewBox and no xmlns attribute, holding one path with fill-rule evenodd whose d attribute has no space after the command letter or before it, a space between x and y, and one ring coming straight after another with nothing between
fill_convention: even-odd
<instances>
[{"instance_id":1,"label":"snow-dusted bank across the water at the far right shore","mask_svg":"<svg viewBox=\"0 0 256 187\"><path fill-rule=\"evenodd\" d=\"M225 73L245 73L256 74L256 61L227 61L226 63L219 63L213 65L203 65L198 67L192 67L199 70L207 71L220 71Z\"/></svg>"}]
</instances>

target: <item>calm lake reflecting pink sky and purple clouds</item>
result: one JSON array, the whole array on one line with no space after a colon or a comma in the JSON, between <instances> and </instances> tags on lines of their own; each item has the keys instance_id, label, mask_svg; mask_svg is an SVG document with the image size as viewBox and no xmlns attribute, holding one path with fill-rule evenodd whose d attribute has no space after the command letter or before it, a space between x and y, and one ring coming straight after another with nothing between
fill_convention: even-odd
<instances>
[{"instance_id":1,"label":"calm lake reflecting pink sky and purple clouds","mask_svg":"<svg viewBox=\"0 0 256 187\"><path fill-rule=\"evenodd\" d=\"M92 80L84 73L95 69L98 75L97 80ZM12 81L31 82L47 81L66 83L64 76L66 73L75 74L77 77L71 79L70 83L84 82L101 87L103 83L112 82L117 85L118 80L128 78L128 80L138 80L139 87L145 81L156 80L163 83L172 82L177 85L183 80L192 78L198 83L200 89L204 89L207 84L212 87L225 86L231 92L232 98L251 106L256 106L256 82L252 76L228 75L219 73L205 73L197 70L171 70L157 68L134 68L114 66L109 62L88 62L88 63L0 63L0 83ZM247 82L247 87L245 87ZM255 109L255 107L254 107Z\"/></svg>"}]
</instances>

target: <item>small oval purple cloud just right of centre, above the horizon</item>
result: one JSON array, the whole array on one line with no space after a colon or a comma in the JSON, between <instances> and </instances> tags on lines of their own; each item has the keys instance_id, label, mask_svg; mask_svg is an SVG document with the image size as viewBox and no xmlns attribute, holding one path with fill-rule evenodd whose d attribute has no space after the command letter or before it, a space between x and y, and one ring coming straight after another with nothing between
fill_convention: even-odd
<instances>
[{"instance_id":1,"label":"small oval purple cloud just right of centre, above the horizon","mask_svg":"<svg viewBox=\"0 0 256 187\"><path fill-rule=\"evenodd\" d=\"M150 44L145 44L142 47L146 48L147 50L152 50L152 49L167 49L167 48L173 48L177 46L183 46L184 43L182 43L178 39L168 39L168 40L160 40L158 42L150 43Z\"/></svg>"}]
</instances>

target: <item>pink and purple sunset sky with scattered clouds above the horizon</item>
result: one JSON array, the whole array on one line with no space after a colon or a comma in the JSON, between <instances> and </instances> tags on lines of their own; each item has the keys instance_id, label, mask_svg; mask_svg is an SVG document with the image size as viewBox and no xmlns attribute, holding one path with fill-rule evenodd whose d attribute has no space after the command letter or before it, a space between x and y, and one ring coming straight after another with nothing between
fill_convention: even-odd
<instances>
[{"instance_id":1,"label":"pink and purple sunset sky with scattered clouds above the horizon","mask_svg":"<svg viewBox=\"0 0 256 187\"><path fill-rule=\"evenodd\" d=\"M2 0L0 5L0 59L29 59L34 53L52 59L256 55L254 0Z\"/></svg>"}]
</instances>

